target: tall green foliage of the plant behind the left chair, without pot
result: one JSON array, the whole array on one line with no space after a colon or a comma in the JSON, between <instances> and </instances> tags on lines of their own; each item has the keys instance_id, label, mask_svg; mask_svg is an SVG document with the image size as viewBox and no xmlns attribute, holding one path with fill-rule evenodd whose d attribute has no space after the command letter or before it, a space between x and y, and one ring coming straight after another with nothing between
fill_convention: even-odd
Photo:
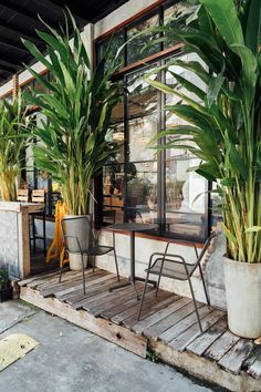
<instances>
[{"instance_id":1,"label":"tall green foliage of the plant behind the left chair, without pot","mask_svg":"<svg viewBox=\"0 0 261 392\"><path fill-rule=\"evenodd\" d=\"M119 65L115 59L106 66L109 56L106 51L93 72L80 30L69 10L67 14L65 30L56 31L42 21L48 32L36 31L46 45L48 56L23 40L52 75L49 82L28 68L41 89L33 89L24 96L48 118L34 128L34 135L41 140L34 147L35 166L60 184L69 214L85 215L93 178L117 148L109 138L109 120L119 101L118 85L111 81ZM73 37L69 34L69 22L73 25Z\"/></svg>"}]
</instances>

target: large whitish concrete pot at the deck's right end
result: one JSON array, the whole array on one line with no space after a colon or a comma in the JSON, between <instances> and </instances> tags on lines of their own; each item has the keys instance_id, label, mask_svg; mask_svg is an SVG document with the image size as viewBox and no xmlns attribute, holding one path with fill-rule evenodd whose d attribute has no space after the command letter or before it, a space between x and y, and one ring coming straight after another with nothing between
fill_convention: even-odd
<instances>
[{"instance_id":1,"label":"large whitish concrete pot at the deck's right end","mask_svg":"<svg viewBox=\"0 0 261 392\"><path fill-rule=\"evenodd\" d=\"M242 338L261 337L261 264L223 257L229 329Z\"/></svg>"}]
</instances>

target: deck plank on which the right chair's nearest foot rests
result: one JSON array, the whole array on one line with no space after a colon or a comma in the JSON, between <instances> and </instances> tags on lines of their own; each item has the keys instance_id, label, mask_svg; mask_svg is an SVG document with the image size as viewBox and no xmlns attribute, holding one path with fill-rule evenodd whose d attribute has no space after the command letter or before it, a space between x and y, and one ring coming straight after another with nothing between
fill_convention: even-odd
<instances>
[{"instance_id":1,"label":"deck plank on which the right chair's nearest foot rests","mask_svg":"<svg viewBox=\"0 0 261 392\"><path fill-rule=\"evenodd\" d=\"M207 314L201 319L202 329L208 330L223 316L225 312L222 310L211 311L209 314ZM186 347L200 334L201 332L198 322L196 322L192 327L188 328L184 333L180 333L177 338L171 340L171 342L169 342L169 345L177 351L184 351Z\"/></svg>"}]
</instances>

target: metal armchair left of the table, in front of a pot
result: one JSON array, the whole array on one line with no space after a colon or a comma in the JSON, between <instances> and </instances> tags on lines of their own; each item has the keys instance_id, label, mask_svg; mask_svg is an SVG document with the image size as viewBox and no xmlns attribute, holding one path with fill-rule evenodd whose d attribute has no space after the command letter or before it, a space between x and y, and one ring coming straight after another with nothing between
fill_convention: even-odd
<instances>
[{"instance_id":1,"label":"metal armchair left of the table, in front of a pot","mask_svg":"<svg viewBox=\"0 0 261 392\"><path fill-rule=\"evenodd\" d=\"M86 241L87 248L83 249L80 244L80 238L76 236L67 235L66 233L69 230L69 225L70 223L73 223L74 219L77 220L84 220L84 224L87 227L87 233L88 233L88 241ZM63 267L64 267L64 259L65 259L65 254L70 254L70 251L73 251L74 254L81 255L82 258L82 272L83 272L83 292L85 295L85 274L84 274L84 256L93 256L93 271L95 268L95 258L96 256L102 256L106 255L109 251L114 252L114 258L115 258L115 267L116 267L116 274L117 274L117 279L119 281L119 272L118 272L118 264L117 264L117 255L115 250L115 234L113 233L113 246L105 246L105 245L100 245L98 244L98 237L95 236L93 233L92 228L92 221L86 217L86 216L79 216L75 218L64 218L61 221L62 225L62 234L63 234L63 244L64 244L64 251L63 251L63 259L62 259L62 265L60 269L60 276L59 276L59 282L62 281L62 272L63 272Z\"/></svg>"}]
</instances>

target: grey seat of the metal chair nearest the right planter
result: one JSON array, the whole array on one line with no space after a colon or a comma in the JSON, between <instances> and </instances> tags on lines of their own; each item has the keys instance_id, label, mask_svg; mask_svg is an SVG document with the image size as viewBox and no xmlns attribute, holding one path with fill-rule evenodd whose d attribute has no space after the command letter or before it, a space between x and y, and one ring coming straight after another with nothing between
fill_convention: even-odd
<instances>
[{"instance_id":1,"label":"grey seat of the metal chair nearest the right planter","mask_svg":"<svg viewBox=\"0 0 261 392\"><path fill-rule=\"evenodd\" d=\"M168 255L166 255L168 257ZM163 266L164 261L164 266ZM163 266L163 268L161 268ZM186 262L188 274L191 276L195 269L195 264ZM145 270L148 271L148 268ZM149 274L161 276L169 279L187 280L188 276L186 274L184 264L178 260L158 258L155 260L154 265L149 269Z\"/></svg>"}]
</instances>

